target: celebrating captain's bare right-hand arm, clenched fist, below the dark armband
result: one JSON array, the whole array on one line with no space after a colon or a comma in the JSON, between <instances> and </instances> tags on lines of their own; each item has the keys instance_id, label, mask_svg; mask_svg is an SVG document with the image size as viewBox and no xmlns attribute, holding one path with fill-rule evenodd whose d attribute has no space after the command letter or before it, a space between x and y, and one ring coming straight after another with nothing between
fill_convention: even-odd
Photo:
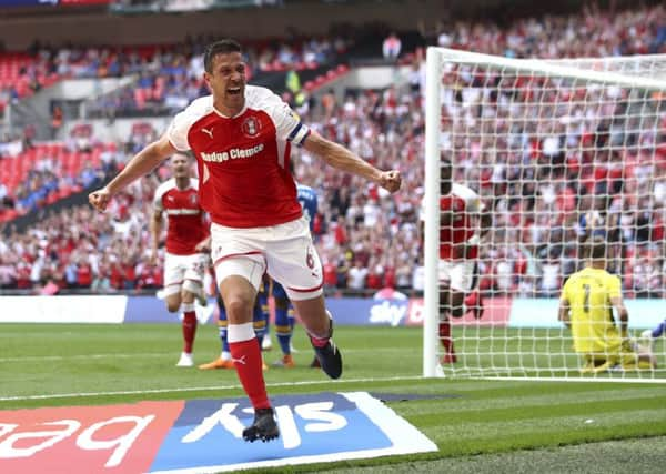
<instances>
[{"instance_id":1,"label":"celebrating captain's bare right-hand arm, clenched fist, below the dark armband","mask_svg":"<svg viewBox=\"0 0 666 474\"><path fill-rule=\"evenodd\" d=\"M395 192L401 186L402 177L400 175L400 171L379 170L365 160L356 157L346 148L326 140L314 131L307 137L303 148L310 153L324 160L331 167L363 177L377 183L386 191Z\"/></svg>"}]
</instances>

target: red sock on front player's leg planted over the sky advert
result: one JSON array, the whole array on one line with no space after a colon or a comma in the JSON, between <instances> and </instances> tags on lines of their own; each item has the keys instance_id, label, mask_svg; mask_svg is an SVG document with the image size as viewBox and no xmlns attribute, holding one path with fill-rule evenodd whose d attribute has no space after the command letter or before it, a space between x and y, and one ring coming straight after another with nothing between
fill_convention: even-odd
<instances>
[{"instance_id":1,"label":"red sock on front player's leg planted over the sky advert","mask_svg":"<svg viewBox=\"0 0 666 474\"><path fill-rule=\"evenodd\" d=\"M263 380L261 369L261 346L256 337L241 342L230 342L231 359L236 367L239 380L245 390L245 393L256 409L270 409L269 395L266 394L266 384Z\"/></svg>"}]
</instances>

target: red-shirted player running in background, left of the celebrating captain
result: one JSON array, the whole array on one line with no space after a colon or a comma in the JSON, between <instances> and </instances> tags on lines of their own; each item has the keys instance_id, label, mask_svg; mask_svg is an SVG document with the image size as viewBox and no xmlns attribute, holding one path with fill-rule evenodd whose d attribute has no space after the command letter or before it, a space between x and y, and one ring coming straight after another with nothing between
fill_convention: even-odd
<instances>
[{"instance_id":1,"label":"red-shirted player running in background, left of the celebrating captain","mask_svg":"<svg viewBox=\"0 0 666 474\"><path fill-rule=\"evenodd\" d=\"M151 263L158 260L163 216L167 215L164 256L164 299L171 313L183 312L183 352L179 367L191 367L196 334L194 299L203 296L203 275L209 265L210 231L205 213L199 204L199 181L190 177L190 158L175 153L171 158L172 177L162 183L153 199L151 220Z\"/></svg>"}]
</instances>

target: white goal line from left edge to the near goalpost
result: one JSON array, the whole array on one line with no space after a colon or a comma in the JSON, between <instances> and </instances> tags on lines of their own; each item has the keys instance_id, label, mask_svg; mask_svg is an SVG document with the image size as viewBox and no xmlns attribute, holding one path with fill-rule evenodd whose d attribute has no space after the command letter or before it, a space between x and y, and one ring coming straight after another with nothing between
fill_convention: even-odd
<instances>
[{"instance_id":1,"label":"white goal line from left edge to the near goalpost","mask_svg":"<svg viewBox=\"0 0 666 474\"><path fill-rule=\"evenodd\" d=\"M320 381L300 381L300 382L278 382L268 383L266 387L272 386L305 386L305 385L322 385L322 384L347 384L347 383L369 383L369 382L391 382L391 381L408 381L408 380L423 380L421 375L410 376L395 376L395 377L379 377L379 379L350 379L350 380L320 380ZM143 395L143 394L155 394L155 393L171 393L171 392L205 392L213 390L236 390L242 389L241 384L234 385L218 385L218 386L193 386L193 387L179 387L179 389L154 389L154 390L127 390L118 392L82 392L82 393L52 393L47 395L17 395L17 396L0 396L0 402L20 402L28 400L51 400L51 399L79 399L90 396L114 396L114 395Z\"/></svg>"}]
</instances>

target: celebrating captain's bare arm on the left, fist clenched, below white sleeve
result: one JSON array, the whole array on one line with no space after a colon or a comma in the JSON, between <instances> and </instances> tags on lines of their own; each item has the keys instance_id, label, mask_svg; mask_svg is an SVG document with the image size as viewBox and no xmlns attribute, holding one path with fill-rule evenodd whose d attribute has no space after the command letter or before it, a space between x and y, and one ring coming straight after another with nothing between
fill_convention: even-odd
<instances>
[{"instance_id":1,"label":"celebrating captain's bare arm on the left, fist clenched, below white sleeve","mask_svg":"<svg viewBox=\"0 0 666 474\"><path fill-rule=\"evenodd\" d=\"M158 164L175 153L175 148L173 148L167 135L163 135L137 153L109 184L91 192L88 195L88 201L98 211L104 211L111 198L139 178L148 174Z\"/></svg>"}]
</instances>

